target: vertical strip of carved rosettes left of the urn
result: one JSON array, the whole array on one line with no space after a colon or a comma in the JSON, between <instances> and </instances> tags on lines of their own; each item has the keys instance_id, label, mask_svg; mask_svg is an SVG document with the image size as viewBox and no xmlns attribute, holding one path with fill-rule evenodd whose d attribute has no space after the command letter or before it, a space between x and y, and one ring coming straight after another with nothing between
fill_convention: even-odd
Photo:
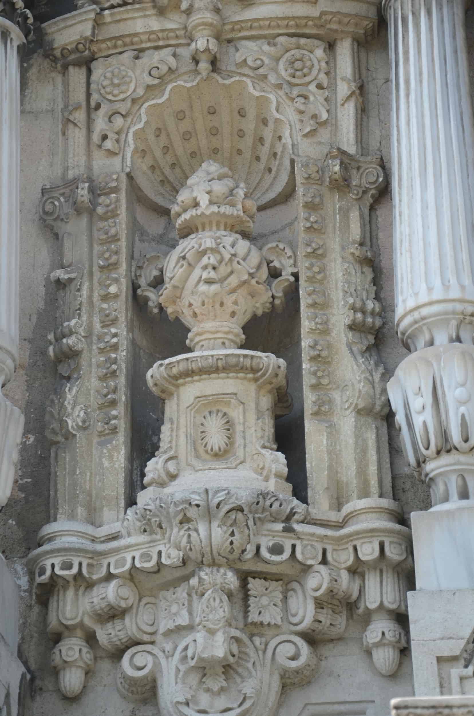
<instances>
[{"instance_id":1,"label":"vertical strip of carved rosettes left of the urn","mask_svg":"<svg viewBox=\"0 0 474 716\"><path fill-rule=\"evenodd\" d=\"M130 298L131 259L127 213L127 179L123 174L97 180L94 216L93 394L95 400L96 500L106 493L113 473L122 475L120 502L130 479ZM100 487L100 485L102 485ZM117 519L112 505L98 505L105 523ZM118 507L117 507L118 508ZM110 509L110 516L107 512ZM120 508L118 508L120 509Z\"/></svg>"}]
</instances>

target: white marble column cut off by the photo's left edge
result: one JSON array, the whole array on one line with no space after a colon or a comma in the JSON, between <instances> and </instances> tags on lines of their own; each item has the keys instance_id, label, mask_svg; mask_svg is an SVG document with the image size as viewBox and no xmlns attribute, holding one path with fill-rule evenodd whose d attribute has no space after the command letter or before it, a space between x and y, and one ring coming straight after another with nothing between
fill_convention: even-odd
<instances>
[{"instance_id":1,"label":"white marble column cut off by the photo's left edge","mask_svg":"<svg viewBox=\"0 0 474 716\"><path fill-rule=\"evenodd\" d=\"M1 394L18 364L20 56L25 39L0 16L0 505L11 493L24 417Z\"/></svg>"}]
</instances>

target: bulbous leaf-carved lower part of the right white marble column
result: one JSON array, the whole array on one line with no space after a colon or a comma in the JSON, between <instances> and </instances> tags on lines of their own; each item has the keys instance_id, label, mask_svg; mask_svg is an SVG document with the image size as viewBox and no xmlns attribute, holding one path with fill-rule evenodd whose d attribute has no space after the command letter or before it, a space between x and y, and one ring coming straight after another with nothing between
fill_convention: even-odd
<instances>
[{"instance_id":1,"label":"bulbous leaf-carved lower part of the right white marble column","mask_svg":"<svg viewBox=\"0 0 474 716\"><path fill-rule=\"evenodd\" d=\"M427 481L432 505L474 499L473 347L417 351L387 387L405 457Z\"/></svg>"}]
</instances>

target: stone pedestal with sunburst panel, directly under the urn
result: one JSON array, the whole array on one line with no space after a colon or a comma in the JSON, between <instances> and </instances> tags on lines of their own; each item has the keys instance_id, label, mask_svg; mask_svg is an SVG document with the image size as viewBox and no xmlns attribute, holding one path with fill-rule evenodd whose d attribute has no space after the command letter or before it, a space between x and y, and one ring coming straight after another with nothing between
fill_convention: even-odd
<instances>
[{"instance_id":1,"label":"stone pedestal with sunburst panel, directly under the urn","mask_svg":"<svg viewBox=\"0 0 474 716\"><path fill-rule=\"evenodd\" d=\"M183 490L195 488L198 478L206 487L291 495L275 442L275 413L291 410L283 360L254 351L201 351L156 363L147 381L166 402L160 450L147 465L145 485Z\"/></svg>"}]
</instances>

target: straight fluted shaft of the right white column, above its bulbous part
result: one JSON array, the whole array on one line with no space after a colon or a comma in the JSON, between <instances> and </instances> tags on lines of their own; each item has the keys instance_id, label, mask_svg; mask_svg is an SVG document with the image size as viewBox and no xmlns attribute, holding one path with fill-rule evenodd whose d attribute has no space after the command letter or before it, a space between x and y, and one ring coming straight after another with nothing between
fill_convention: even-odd
<instances>
[{"instance_id":1,"label":"straight fluted shaft of the right white column, above its bulbous part","mask_svg":"<svg viewBox=\"0 0 474 716\"><path fill-rule=\"evenodd\" d=\"M473 343L474 126L465 0L385 0L392 70L397 331Z\"/></svg>"}]
</instances>

